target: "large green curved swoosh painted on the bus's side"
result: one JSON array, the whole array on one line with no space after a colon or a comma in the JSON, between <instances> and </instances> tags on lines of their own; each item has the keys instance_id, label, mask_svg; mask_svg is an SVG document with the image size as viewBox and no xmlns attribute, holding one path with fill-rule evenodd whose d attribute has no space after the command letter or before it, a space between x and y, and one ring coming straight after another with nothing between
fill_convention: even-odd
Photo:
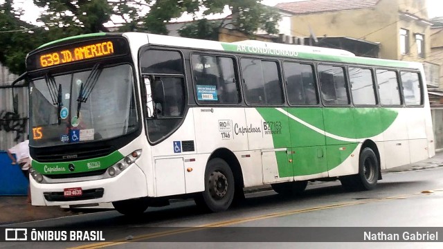
<instances>
[{"instance_id":1,"label":"large green curved swoosh painted on the bus's side","mask_svg":"<svg viewBox=\"0 0 443 249\"><path fill-rule=\"evenodd\" d=\"M395 121L398 116L394 109L386 108L353 108L354 128L341 125L341 120L349 116L350 108L287 108L285 111L317 129L323 130L343 139L361 139L380 135ZM359 142L349 142L325 136L305 124L285 116L275 108L257 108L266 122L282 122L281 133L272 133L275 149L288 148L293 153L282 154L275 151L279 177L305 176L327 172L338 167L352 154ZM325 112L325 113L323 113ZM328 116L329 123L336 123L325 129L323 115ZM351 117L352 118L352 117ZM289 124L283 124L283 122ZM293 159L293 163L288 163Z\"/></svg>"}]
</instances>

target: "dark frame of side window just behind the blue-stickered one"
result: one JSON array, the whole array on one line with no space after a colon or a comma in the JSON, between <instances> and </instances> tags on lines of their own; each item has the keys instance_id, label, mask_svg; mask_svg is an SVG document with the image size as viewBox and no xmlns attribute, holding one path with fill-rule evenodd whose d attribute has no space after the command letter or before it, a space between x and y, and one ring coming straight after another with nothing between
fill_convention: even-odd
<instances>
[{"instance_id":1,"label":"dark frame of side window just behind the blue-stickered one","mask_svg":"<svg viewBox=\"0 0 443 249\"><path fill-rule=\"evenodd\" d=\"M273 58L268 58L268 57L262 57L262 56L256 56L256 57L252 57L252 56L239 56L238 57L238 65L239 65L239 72L240 72L240 80L241 80L241 85L242 85L242 89L244 89L244 75L243 75L243 71L242 71L242 59L260 59L261 62L266 61L266 62L276 62L277 63L277 70L278 70L278 79L280 82L280 89L282 90L282 99L283 102L281 104L251 104L247 101L246 99L246 91L242 91L242 95L243 95L243 100L244 100L244 104L246 104L246 106L248 107L286 107L287 106L287 100L286 100L286 89L284 87L284 83L282 82L283 79L283 75L282 75L282 65L280 64L280 59L273 59Z\"/></svg>"}]
</instances>

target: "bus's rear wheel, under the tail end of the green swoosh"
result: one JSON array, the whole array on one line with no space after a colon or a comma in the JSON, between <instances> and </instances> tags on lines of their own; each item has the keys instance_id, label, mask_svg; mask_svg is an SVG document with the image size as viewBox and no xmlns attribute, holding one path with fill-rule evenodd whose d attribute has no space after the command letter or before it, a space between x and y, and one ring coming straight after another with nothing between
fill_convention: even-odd
<instances>
[{"instance_id":1,"label":"bus's rear wheel, under the tail end of the green swoosh","mask_svg":"<svg viewBox=\"0 0 443 249\"><path fill-rule=\"evenodd\" d=\"M343 176L340 178L341 185L345 190L373 190L379 179L379 160L374 151L364 148L359 158L359 174Z\"/></svg>"}]
</instances>

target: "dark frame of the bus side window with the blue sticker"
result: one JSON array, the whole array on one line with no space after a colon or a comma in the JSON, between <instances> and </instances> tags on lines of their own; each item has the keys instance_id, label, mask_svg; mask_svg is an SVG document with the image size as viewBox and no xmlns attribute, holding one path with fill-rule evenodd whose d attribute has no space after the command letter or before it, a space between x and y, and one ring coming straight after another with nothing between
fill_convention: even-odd
<instances>
[{"instance_id":1,"label":"dark frame of the bus side window with the blue sticker","mask_svg":"<svg viewBox=\"0 0 443 249\"><path fill-rule=\"evenodd\" d=\"M239 95L238 95L238 102L237 104L220 104L220 103L216 103L216 102L207 102L207 103L203 103L200 100L198 100L197 98L197 85L195 84L195 80L194 80L194 69L192 68L192 55L204 55L204 56L214 56L214 57L225 57L225 58L230 58L233 59L233 66L234 66L234 75L235 75L235 80L237 81L237 89L239 91ZM191 78L191 82L192 82L192 89L193 89L193 97L195 100L195 103L199 106L221 106L221 107L238 107L241 106L243 101L244 101L244 97L243 97L243 91L242 91L242 84L240 82L240 74L239 74L239 62L237 60L237 57L235 57L235 55L231 55L231 54L224 54L224 53L210 53L208 51L190 51L189 53L189 62L190 62L190 78Z\"/></svg>"}]
</instances>

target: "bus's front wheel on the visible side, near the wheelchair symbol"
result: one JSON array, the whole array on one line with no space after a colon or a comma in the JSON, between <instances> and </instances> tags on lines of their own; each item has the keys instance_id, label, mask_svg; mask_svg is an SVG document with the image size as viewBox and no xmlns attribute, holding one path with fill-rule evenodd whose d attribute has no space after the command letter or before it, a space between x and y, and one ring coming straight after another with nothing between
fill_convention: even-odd
<instances>
[{"instance_id":1,"label":"bus's front wheel on the visible side, near the wheelchair symbol","mask_svg":"<svg viewBox=\"0 0 443 249\"><path fill-rule=\"evenodd\" d=\"M228 163L221 158L209 160L205 171L205 190L195 203L211 212L227 210L233 203L235 181Z\"/></svg>"}]
</instances>

